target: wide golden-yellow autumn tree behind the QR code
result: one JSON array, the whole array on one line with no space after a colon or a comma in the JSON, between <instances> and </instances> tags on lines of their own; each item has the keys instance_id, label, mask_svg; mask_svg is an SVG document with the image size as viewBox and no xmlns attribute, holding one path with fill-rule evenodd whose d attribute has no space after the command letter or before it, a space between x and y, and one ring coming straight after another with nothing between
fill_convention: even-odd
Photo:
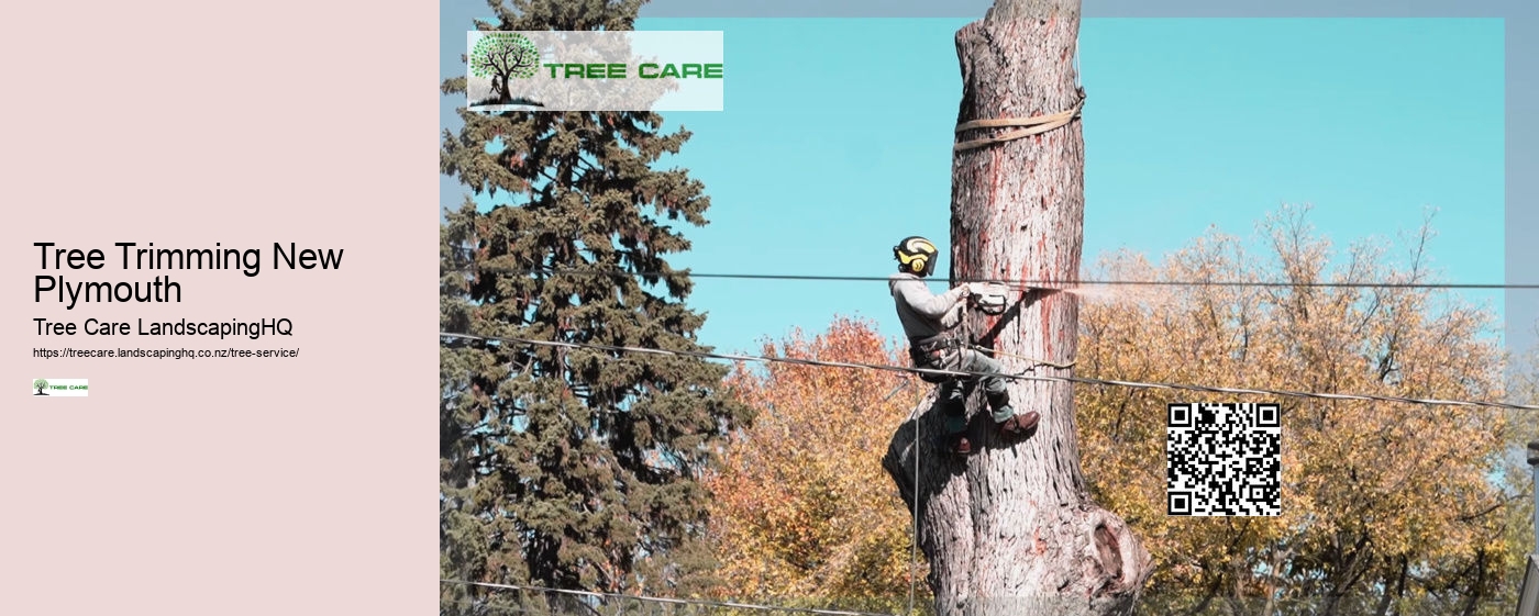
<instances>
[{"instance_id":1,"label":"wide golden-yellow autumn tree behind the QR code","mask_svg":"<svg viewBox=\"0 0 1539 616\"><path fill-rule=\"evenodd\" d=\"M1210 232L1160 264L1131 253L1111 280L1273 281L1182 286L1088 303L1080 375L1405 398L1502 398L1488 310L1425 287L1430 227L1396 263L1382 243L1337 253L1307 209L1260 241ZM1339 257L1340 266L1331 267ZM1270 260L1270 263L1267 263ZM1145 287L1150 289L1150 287ZM1516 585L1511 442L1502 410L1400 402L1080 387L1085 476L1154 556L1147 602L1168 613L1474 614ZM1282 516L1165 515L1170 402L1282 402Z\"/></svg>"}]
</instances>

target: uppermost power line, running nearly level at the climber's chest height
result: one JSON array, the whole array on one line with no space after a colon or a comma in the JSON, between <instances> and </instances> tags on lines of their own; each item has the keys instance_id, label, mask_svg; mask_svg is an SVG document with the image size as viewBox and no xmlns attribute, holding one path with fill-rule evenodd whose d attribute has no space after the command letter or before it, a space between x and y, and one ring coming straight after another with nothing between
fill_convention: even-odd
<instances>
[{"instance_id":1,"label":"uppermost power line, running nearly level at the climber's chest height","mask_svg":"<svg viewBox=\"0 0 1539 616\"><path fill-rule=\"evenodd\" d=\"M666 278L682 275L686 278L722 278L722 280L790 280L790 281L842 281L842 283L862 283L862 281L888 281L888 277L873 277L873 275L811 275L811 273L694 273L689 270L674 270L674 272L603 272L603 270L579 270L579 269L516 269L516 267L472 267L472 269L451 269L448 272L457 273L477 273L477 272L492 272L492 273L514 273L514 275L591 275L591 277L640 277L640 278ZM939 281L939 280L937 280ZM1008 287L1020 289L1042 289L1056 290L1065 287L1087 287L1087 286L1153 286L1153 287L1308 287L1308 289L1485 289L1485 290L1521 290L1521 289L1539 289L1539 283L1534 284L1507 284L1507 283L1288 283L1288 281L1220 281L1220 280L1008 280L1008 278L957 278L951 280L953 284L962 283L996 283L1005 284Z\"/></svg>"}]
</instances>

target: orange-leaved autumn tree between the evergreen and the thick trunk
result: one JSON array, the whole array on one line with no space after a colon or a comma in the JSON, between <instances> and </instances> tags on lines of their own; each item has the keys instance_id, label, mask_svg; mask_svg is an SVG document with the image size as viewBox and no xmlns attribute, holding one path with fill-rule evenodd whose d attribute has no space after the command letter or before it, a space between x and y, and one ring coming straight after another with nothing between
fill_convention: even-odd
<instances>
[{"instance_id":1,"label":"orange-leaved autumn tree between the evergreen and the thick trunk","mask_svg":"<svg viewBox=\"0 0 1539 616\"><path fill-rule=\"evenodd\" d=\"M894 366L906 363L900 352L873 323L839 318L817 336L765 343L762 355ZM783 363L728 378L756 421L706 482L719 594L886 611L906 602L910 518L880 452L928 387L908 379Z\"/></svg>"}]
</instances>

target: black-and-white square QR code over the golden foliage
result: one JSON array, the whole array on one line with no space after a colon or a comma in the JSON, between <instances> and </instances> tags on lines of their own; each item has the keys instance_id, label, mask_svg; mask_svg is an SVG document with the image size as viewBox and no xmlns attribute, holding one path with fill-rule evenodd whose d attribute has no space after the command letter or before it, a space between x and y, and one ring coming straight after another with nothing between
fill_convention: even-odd
<instances>
[{"instance_id":1,"label":"black-and-white square QR code over the golden foliage","mask_svg":"<svg viewBox=\"0 0 1539 616\"><path fill-rule=\"evenodd\" d=\"M1282 515L1277 404L1171 404L1165 478L1173 516Z\"/></svg>"}]
</instances>

